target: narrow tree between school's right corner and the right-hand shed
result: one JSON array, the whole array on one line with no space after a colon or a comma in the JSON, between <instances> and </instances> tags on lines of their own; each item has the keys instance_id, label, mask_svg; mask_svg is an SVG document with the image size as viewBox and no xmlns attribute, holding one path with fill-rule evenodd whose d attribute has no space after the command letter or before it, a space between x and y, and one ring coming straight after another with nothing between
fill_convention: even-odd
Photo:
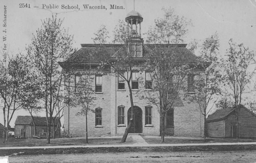
<instances>
[{"instance_id":1,"label":"narrow tree between school's right corner and the right-hand shed","mask_svg":"<svg viewBox=\"0 0 256 163\"><path fill-rule=\"evenodd\" d=\"M206 116L212 109L217 99L214 97L220 94L220 72L218 70L217 50L219 48L218 34L206 38L200 49L201 62L198 67L204 70L204 74L199 74L195 83L196 101L200 111L204 115L204 141L206 141Z\"/></svg>"}]
</instances>

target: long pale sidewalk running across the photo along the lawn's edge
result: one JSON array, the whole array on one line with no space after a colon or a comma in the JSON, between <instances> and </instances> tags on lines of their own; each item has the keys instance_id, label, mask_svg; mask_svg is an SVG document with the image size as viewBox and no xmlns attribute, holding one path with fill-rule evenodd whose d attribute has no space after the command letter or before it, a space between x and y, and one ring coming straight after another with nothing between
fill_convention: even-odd
<instances>
[{"instance_id":1,"label":"long pale sidewalk running across the photo along the lawn's edge","mask_svg":"<svg viewBox=\"0 0 256 163\"><path fill-rule=\"evenodd\" d=\"M256 142L238 143L189 143L189 144L116 144L116 145L62 145L62 146L37 146L37 147L0 147L1 149L48 149L48 148L96 148L96 147L177 147L177 146L206 146L206 145L256 145Z\"/></svg>"}]
</instances>

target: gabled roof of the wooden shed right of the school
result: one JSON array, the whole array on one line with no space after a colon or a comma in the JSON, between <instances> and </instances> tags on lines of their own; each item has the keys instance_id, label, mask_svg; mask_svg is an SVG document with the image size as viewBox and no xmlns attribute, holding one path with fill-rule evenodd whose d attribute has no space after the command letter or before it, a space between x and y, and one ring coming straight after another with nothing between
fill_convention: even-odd
<instances>
[{"instance_id":1,"label":"gabled roof of the wooden shed right of the school","mask_svg":"<svg viewBox=\"0 0 256 163\"><path fill-rule=\"evenodd\" d=\"M238 107L238 106L237 106ZM250 111L249 109L247 109L246 107L244 107L244 105L240 105L240 107L246 109L247 111L249 111L250 113L252 113L252 111ZM206 121L214 121L214 120L221 120L226 118L230 113L232 113L232 111L234 111L235 107L230 107L227 109L220 109L215 111L212 115L209 115L206 118ZM256 116L254 113L252 113L254 116Z\"/></svg>"}]
</instances>

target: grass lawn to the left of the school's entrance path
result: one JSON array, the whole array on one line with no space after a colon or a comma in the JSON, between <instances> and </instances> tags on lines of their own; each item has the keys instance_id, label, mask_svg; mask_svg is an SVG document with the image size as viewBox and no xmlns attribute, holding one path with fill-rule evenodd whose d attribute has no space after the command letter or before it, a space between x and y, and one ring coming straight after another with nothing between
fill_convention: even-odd
<instances>
[{"instance_id":1,"label":"grass lawn to the left of the school's entrance path","mask_svg":"<svg viewBox=\"0 0 256 163\"><path fill-rule=\"evenodd\" d=\"M50 144L46 144L46 139L15 139L8 138L3 144L3 139L0 139L0 147L33 147L33 146L58 146L58 145L102 145L102 144L133 144L132 138L127 137L126 143L120 143L122 137L118 138L92 138L88 139L86 144L86 138L56 138L51 139Z\"/></svg>"}]
</instances>

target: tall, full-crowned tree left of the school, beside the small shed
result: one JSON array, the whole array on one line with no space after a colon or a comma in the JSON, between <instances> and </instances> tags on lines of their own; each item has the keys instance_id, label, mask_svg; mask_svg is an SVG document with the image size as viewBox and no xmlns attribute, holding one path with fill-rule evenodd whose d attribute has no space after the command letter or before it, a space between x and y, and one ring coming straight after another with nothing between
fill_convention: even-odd
<instances>
[{"instance_id":1,"label":"tall, full-crowned tree left of the school, beside the small shed","mask_svg":"<svg viewBox=\"0 0 256 163\"><path fill-rule=\"evenodd\" d=\"M66 60L75 51L72 48L73 36L61 27L62 22L57 16L42 20L42 27L36 31L32 43L26 48L31 63L37 70L40 87L44 91L44 109L48 125L46 143L50 143L53 113L60 97L64 74L58 62Z\"/></svg>"}]
</instances>

